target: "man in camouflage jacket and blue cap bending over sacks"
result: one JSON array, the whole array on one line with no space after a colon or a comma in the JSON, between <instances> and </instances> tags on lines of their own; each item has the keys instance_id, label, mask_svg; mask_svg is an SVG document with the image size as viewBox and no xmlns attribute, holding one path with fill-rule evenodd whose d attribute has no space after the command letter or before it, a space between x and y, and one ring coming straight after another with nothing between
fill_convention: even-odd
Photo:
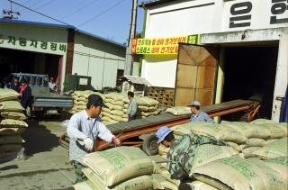
<instances>
[{"instance_id":1,"label":"man in camouflage jacket and blue cap bending over sacks","mask_svg":"<svg viewBox=\"0 0 288 190\"><path fill-rule=\"evenodd\" d=\"M225 146L221 140L213 137L196 135L193 133L186 134L179 139L175 139L173 131L168 127L161 127L156 132L158 143L163 144L167 148L167 169L171 174L171 178L184 181L188 178L193 165L195 149L202 144L215 144Z\"/></svg>"}]
</instances>

